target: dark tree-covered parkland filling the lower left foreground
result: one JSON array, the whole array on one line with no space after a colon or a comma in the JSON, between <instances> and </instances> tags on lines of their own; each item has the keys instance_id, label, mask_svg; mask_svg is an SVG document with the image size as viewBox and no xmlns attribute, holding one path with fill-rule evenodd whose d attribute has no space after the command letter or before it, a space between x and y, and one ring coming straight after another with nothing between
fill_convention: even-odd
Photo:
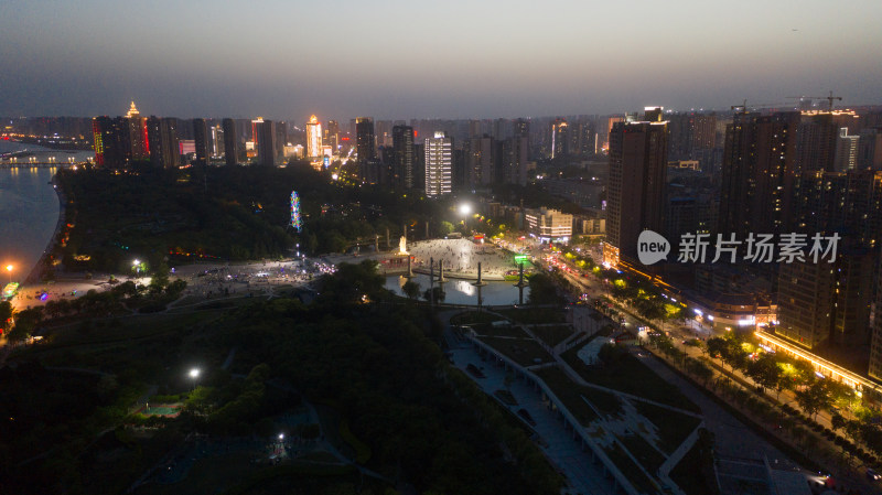
<instances>
[{"instance_id":1,"label":"dark tree-covered parkland filling the lower left foreground","mask_svg":"<svg viewBox=\"0 0 882 495\"><path fill-rule=\"evenodd\" d=\"M309 306L277 298L214 316L107 320L50 332L0 370L0 456L9 461L0 464L0 493L122 493L191 433L269 442L284 428L280 415L304 401L320 409L321 429L287 433L340 438L344 455L387 480L358 493L559 493L560 476L525 427L444 358L440 323L396 303L375 270L370 261L342 265ZM195 389L182 377L192 363L204 372ZM129 412L151 386L151 402L185 403L179 418ZM347 480L302 472L294 480L286 471L292 465L260 473L286 493L320 478ZM228 493L279 493L238 488L252 480L230 480Z\"/></svg>"}]
</instances>

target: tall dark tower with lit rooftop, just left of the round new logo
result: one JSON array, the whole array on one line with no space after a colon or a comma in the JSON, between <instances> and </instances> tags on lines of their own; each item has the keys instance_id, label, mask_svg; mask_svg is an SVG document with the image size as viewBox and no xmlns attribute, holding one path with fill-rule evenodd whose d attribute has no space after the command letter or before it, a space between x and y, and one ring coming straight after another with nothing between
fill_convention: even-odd
<instances>
[{"instance_id":1,"label":"tall dark tower with lit rooftop, just left of the round new logo","mask_svg":"<svg viewBox=\"0 0 882 495\"><path fill-rule=\"evenodd\" d=\"M654 117L647 108L646 117ZM616 122L610 133L610 184L603 260L613 267L637 259L637 237L663 232L668 155L667 121Z\"/></svg>"}]
</instances>

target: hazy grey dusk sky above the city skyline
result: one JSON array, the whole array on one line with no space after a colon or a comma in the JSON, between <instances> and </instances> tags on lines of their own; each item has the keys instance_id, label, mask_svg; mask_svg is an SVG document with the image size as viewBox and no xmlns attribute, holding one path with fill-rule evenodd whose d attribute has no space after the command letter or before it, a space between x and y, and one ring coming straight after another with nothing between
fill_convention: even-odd
<instances>
[{"instance_id":1,"label":"hazy grey dusk sky above the city skyline","mask_svg":"<svg viewBox=\"0 0 882 495\"><path fill-rule=\"evenodd\" d=\"M882 1L0 1L0 115L302 122L880 104ZM796 31L794 31L796 30Z\"/></svg>"}]
</instances>

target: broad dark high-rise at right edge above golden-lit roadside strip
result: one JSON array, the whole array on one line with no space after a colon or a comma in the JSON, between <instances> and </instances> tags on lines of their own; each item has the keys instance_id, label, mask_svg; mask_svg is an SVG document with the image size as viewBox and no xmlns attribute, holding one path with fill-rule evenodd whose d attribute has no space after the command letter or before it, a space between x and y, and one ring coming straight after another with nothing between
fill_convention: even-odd
<instances>
[{"instance_id":1,"label":"broad dark high-rise at right edge above golden-lit roadside strip","mask_svg":"<svg viewBox=\"0 0 882 495\"><path fill-rule=\"evenodd\" d=\"M776 333L804 347L865 346L882 232L882 172L804 172L794 182L792 225L806 235L838 234L832 263L782 262ZM808 247L813 244L807 241Z\"/></svg>"}]
</instances>

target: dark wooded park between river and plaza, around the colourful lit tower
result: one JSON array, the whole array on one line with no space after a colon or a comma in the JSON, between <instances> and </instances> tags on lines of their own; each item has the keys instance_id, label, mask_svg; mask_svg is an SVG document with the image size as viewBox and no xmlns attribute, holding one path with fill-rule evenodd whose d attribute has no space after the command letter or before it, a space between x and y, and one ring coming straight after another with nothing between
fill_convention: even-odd
<instances>
[{"instance_id":1,"label":"dark wooded park between river and plaza, around the colourful lit tower","mask_svg":"<svg viewBox=\"0 0 882 495\"><path fill-rule=\"evenodd\" d=\"M343 186L308 166L63 171L67 227L56 256L74 270L119 271L143 258L245 260L342 251L407 225L419 234L437 203L419 194ZM303 232L290 227L300 195ZM440 225L432 225L437 234Z\"/></svg>"}]
</instances>

